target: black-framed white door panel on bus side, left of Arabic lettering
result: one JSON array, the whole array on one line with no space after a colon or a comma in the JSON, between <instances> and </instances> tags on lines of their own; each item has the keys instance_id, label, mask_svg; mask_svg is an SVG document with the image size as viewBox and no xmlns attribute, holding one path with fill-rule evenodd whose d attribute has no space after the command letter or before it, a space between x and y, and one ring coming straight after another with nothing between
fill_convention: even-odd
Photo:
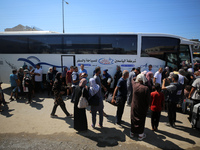
<instances>
[{"instance_id":1,"label":"black-framed white door panel on bus side, left of Arabic lettering","mask_svg":"<svg viewBox=\"0 0 200 150\"><path fill-rule=\"evenodd\" d=\"M62 71L64 67L75 66L75 55L61 55Z\"/></svg>"}]
</instances>

